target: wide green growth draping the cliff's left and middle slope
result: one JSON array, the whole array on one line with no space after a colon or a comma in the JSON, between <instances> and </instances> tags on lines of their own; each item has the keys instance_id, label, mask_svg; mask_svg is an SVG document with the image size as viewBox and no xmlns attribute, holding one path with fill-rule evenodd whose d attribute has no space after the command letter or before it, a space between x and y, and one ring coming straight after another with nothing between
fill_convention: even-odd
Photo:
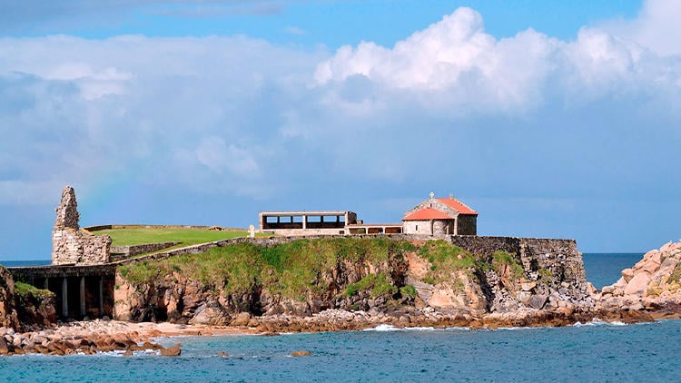
<instances>
[{"instance_id":1,"label":"wide green growth draping the cliff's left and middle slope","mask_svg":"<svg viewBox=\"0 0 681 383\"><path fill-rule=\"evenodd\" d=\"M175 272L183 278L202 281L205 289L223 288L226 294L267 286L273 293L300 300L309 292L327 290L325 280L343 262L384 263L391 255L399 255L402 246L400 241L351 237L299 240L271 247L238 243L200 254L132 263L118 270L123 278L137 284L151 283ZM364 289L376 296L397 292L384 274L358 283L362 284L355 287L355 293Z\"/></svg>"}]
</instances>

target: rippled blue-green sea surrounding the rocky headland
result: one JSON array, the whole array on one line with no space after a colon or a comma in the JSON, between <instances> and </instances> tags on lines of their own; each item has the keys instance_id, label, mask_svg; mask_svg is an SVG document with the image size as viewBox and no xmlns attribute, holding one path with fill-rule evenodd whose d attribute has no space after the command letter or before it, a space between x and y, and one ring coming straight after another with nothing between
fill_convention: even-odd
<instances>
[{"instance_id":1,"label":"rippled blue-green sea surrounding the rocky headland","mask_svg":"<svg viewBox=\"0 0 681 383\"><path fill-rule=\"evenodd\" d=\"M584 254L597 288L642 254ZM5 381L667 382L681 379L681 320L563 328L395 329L158 339L177 358L0 357ZM310 356L291 357L293 351ZM219 354L225 352L229 357Z\"/></svg>"}]
</instances>

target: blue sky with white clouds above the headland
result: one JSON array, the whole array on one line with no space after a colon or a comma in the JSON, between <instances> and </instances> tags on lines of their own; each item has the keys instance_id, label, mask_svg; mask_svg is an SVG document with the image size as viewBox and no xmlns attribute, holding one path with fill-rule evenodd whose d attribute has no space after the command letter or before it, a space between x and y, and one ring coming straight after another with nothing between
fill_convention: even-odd
<instances>
[{"instance_id":1,"label":"blue sky with white clouds above the headland","mask_svg":"<svg viewBox=\"0 0 681 383\"><path fill-rule=\"evenodd\" d=\"M0 260L81 225L366 222L681 237L681 2L0 0Z\"/></svg>"}]
</instances>

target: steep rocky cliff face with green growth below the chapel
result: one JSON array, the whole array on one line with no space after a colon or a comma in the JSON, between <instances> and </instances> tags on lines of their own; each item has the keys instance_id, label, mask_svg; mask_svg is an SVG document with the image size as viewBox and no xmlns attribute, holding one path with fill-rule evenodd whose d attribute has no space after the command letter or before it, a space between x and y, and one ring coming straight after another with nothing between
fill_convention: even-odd
<instances>
[{"instance_id":1,"label":"steep rocky cliff face with green growth below the chapel","mask_svg":"<svg viewBox=\"0 0 681 383\"><path fill-rule=\"evenodd\" d=\"M574 241L460 241L242 243L139 261L117 272L114 317L246 324L250 316L306 317L325 309L570 311L590 300Z\"/></svg>"}]
</instances>

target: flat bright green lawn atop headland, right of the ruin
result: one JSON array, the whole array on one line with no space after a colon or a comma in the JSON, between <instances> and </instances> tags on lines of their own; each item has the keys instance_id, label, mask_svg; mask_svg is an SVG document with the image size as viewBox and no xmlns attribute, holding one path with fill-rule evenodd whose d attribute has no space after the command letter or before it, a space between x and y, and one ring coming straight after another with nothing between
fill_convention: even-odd
<instances>
[{"instance_id":1,"label":"flat bright green lawn atop headland, right of the ruin","mask_svg":"<svg viewBox=\"0 0 681 383\"><path fill-rule=\"evenodd\" d=\"M207 229L169 229L169 228L138 228L138 229L109 229L93 231L94 235L108 234L111 236L112 246L142 245L144 243L159 243L180 241L182 246L194 245L236 237L248 236L248 231L209 231Z\"/></svg>"}]
</instances>

